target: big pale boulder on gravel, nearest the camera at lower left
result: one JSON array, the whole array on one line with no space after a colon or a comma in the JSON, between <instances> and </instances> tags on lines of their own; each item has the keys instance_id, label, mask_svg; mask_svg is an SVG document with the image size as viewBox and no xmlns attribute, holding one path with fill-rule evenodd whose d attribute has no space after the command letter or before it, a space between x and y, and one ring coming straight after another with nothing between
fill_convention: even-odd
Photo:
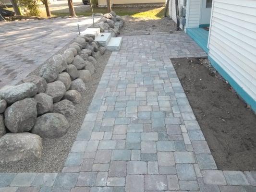
<instances>
[{"instance_id":1,"label":"big pale boulder on gravel, nearest the camera at lower left","mask_svg":"<svg viewBox=\"0 0 256 192\"><path fill-rule=\"evenodd\" d=\"M24 133L7 133L0 138L0 162L37 161L42 156L40 136Z\"/></svg>"}]
</instances>

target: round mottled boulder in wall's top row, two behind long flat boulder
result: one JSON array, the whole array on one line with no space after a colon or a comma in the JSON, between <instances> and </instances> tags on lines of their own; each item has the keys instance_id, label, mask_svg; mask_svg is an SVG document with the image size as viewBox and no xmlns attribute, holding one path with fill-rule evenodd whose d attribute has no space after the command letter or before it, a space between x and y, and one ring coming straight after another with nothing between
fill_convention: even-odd
<instances>
[{"instance_id":1,"label":"round mottled boulder in wall's top row, two behind long flat boulder","mask_svg":"<svg viewBox=\"0 0 256 192\"><path fill-rule=\"evenodd\" d=\"M43 77L47 83L54 82L59 75L59 70L55 65L45 64L39 71L39 76Z\"/></svg>"}]
</instances>

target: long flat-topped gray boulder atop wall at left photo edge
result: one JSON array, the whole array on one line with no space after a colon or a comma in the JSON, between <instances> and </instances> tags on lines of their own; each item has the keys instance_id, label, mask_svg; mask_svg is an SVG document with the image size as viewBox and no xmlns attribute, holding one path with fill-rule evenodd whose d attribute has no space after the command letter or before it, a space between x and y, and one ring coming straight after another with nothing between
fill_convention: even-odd
<instances>
[{"instance_id":1,"label":"long flat-topped gray boulder atop wall at left photo edge","mask_svg":"<svg viewBox=\"0 0 256 192\"><path fill-rule=\"evenodd\" d=\"M37 85L33 83L23 83L15 86L7 86L0 90L0 97L5 99L8 104L32 97L37 94Z\"/></svg>"}]
</instances>

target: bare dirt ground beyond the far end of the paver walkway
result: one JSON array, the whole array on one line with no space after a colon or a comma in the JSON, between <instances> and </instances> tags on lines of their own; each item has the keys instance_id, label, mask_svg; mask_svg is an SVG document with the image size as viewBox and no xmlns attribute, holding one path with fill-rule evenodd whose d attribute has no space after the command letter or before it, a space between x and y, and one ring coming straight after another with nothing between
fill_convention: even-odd
<instances>
[{"instance_id":1,"label":"bare dirt ground beyond the far end of the paver walkway","mask_svg":"<svg viewBox=\"0 0 256 192\"><path fill-rule=\"evenodd\" d=\"M122 16L124 20L120 36L149 35L159 32L180 33L176 31L176 24L169 17L162 19L134 18Z\"/></svg>"}]
</instances>

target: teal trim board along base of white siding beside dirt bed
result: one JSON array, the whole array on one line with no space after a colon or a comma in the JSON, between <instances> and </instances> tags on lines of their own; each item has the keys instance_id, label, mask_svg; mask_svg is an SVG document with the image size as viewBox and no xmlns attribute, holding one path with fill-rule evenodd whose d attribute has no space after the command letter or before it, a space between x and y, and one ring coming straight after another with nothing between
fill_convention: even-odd
<instances>
[{"instance_id":1,"label":"teal trim board along base of white siding beside dirt bed","mask_svg":"<svg viewBox=\"0 0 256 192\"><path fill-rule=\"evenodd\" d=\"M244 89L237 84L232 77L225 72L220 66L219 64L213 60L210 56L208 56L208 60L211 61L212 66L219 72L219 74L221 74L221 76L226 79L229 84L233 87L233 89L237 92L238 95L240 95L244 101L251 106L251 108L253 109L253 111L256 113L256 100L254 100L251 96L249 96Z\"/></svg>"}]
</instances>

